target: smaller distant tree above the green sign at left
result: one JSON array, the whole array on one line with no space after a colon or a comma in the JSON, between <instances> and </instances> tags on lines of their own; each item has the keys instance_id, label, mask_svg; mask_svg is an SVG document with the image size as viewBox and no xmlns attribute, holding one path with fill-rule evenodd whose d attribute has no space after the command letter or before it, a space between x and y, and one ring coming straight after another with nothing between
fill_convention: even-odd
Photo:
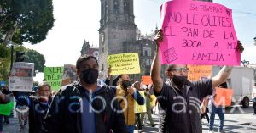
<instances>
[{"instance_id":1,"label":"smaller distant tree above the green sign at left","mask_svg":"<svg viewBox=\"0 0 256 133\"><path fill-rule=\"evenodd\" d=\"M34 63L35 71L44 72L45 59L43 54L32 49L27 49L24 56L24 62Z\"/></svg>"}]
</instances>

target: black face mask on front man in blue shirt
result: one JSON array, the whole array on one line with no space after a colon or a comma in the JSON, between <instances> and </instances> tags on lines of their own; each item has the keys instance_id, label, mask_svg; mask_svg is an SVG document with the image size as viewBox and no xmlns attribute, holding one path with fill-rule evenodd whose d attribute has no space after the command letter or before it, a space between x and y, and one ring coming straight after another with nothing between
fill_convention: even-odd
<instances>
[{"instance_id":1,"label":"black face mask on front man in blue shirt","mask_svg":"<svg viewBox=\"0 0 256 133\"><path fill-rule=\"evenodd\" d=\"M85 69L82 72L82 80L84 80L84 82L86 82L87 84L91 85L96 83L97 79L99 76L99 71L97 69Z\"/></svg>"}]
</instances>

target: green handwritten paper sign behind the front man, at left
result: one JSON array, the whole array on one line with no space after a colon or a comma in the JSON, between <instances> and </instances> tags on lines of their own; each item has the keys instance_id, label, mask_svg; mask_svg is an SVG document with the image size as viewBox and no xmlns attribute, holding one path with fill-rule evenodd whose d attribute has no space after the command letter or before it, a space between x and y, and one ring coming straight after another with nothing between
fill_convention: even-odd
<instances>
[{"instance_id":1,"label":"green handwritten paper sign behind the front man, at left","mask_svg":"<svg viewBox=\"0 0 256 133\"><path fill-rule=\"evenodd\" d=\"M44 67L44 80L49 82L52 91L61 88L63 67Z\"/></svg>"}]
</instances>

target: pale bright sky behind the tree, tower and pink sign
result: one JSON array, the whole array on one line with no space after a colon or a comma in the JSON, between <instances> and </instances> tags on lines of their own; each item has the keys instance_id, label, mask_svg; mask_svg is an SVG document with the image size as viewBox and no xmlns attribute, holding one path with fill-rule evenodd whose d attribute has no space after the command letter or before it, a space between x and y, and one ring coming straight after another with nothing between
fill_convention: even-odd
<instances>
[{"instance_id":1,"label":"pale bright sky behind the tree, tower and pink sign","mask_svg":"<svg viewBox=\"0 0 256 133\"><path fill-rule=\"evenodd\" d=\"M160 27L160 4L166 0L134 0L135 23L143 34ZM84 40L98 45L100 0L53 0L55 24L47 39L36 45L25 45L44 54L46 66L75 64ZM255 0L215 0L233 9L236 35L245 47L241 59L256 64L256 4Z\"/></svg>"}]
</instances>

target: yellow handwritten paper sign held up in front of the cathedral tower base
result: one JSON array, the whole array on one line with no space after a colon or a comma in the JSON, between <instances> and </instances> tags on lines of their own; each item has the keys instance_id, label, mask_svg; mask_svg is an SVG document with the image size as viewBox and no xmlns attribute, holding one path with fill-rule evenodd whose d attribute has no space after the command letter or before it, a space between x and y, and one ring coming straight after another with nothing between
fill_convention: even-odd
<instances>
[{"instance_id":1,"label":"yellow handwritten paper sign held up in front of the cathedral tower base","mask_svg":"<svg viewBox=\"0 0 256 133\"><path fill-rule=\"evenodd\" d=\"M110 75L139 74L141 72L137 53L120 53L108 55Z\"/></svg>"}]
</instances>

